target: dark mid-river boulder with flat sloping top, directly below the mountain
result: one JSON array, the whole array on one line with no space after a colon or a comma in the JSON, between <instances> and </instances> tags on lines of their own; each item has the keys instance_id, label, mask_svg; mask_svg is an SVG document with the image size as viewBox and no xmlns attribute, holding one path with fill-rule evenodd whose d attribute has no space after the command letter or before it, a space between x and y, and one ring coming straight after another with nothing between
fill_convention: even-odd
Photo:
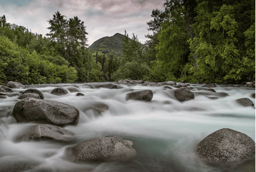
<instances>
[{"instance_id":1,"label":"dark mid-river boulder with flat sloping top, directly below the mountain","mask_svg":"<svg viewBox=\"0 0 256 172\"><path fill-rule=\"evenodd\" d=\"M126 95L126 100L146 100L151 101L153 98L153 92L151 90L142 90L137 92L130 92Z\"/></svg>"}]
</instances>

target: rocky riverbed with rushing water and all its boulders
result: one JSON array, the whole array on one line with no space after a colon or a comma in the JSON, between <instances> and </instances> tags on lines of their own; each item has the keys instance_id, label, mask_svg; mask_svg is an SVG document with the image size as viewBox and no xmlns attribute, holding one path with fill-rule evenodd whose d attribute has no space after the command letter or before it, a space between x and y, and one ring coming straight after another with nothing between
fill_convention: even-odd
<instances>
[{"instance_id":1,"label":"rocky riverbed with rushing water and all its boulders","mask_svg":"<svg viewBox=\"0 0 256 172\"><path fill-rule=\"evenodd\" d=\"M8 86L0 86L0 172L255 171L248 84Z\"/></svg>"}]
</instances>

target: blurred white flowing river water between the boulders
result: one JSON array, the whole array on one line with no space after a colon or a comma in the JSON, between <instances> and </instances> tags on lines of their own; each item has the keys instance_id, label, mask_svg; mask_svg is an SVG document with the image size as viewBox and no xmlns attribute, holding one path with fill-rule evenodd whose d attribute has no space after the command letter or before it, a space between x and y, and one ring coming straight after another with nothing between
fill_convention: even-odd
<instances>
[{"instance_id":1,"label":"blurred white flowing river water between the boulders","mask_svg":"<svg viewBox=\"0 0 256 172\"><path fill-rule=\"evenodd\" d=\"M205 161L195 154L196 145L207 135L221 128L230 128L247 134L255 141L255 88L226 87L217 85L215 92L205 91L203 84L191 84L194 100L180 102L173 89L164 86L127 86L118 89L95 89L96 83L27 85L6 93L0 99L0 171L8 171L19 164L33 164L28 171L152 171L152 172L243 172L254 171L255 155L244 161ZM54 88L76 87L77 92L52 95ZM39 89L45 100L70 104L80 111L77 126L64 127L74 133L70 143L53 141L14 140L23 128L31 123L17 123L12 109L26 89ZM151 101L126 101L126 94L150 89ZM218 92L229 96L222 97ZM213 98L215 97L215 98ZM218 97L216 99L216 97ZM254 107L236 104L239 98L249 98ZM94 108L93 108L94 107ZM116 161L76 163L70 158L69 149L95 137L116 135L133 141L137 154L133 158Z\"/></svg>"}]
</instances>

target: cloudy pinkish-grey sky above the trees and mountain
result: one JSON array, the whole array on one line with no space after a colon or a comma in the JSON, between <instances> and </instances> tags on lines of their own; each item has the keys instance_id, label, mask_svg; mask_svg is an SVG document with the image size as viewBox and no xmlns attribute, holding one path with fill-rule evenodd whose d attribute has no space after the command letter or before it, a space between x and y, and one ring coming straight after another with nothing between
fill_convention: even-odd
<instances>
[{"instance_id":1,"label":"cloudy pinkish-grey sky above the trees and mountain","mask_svg":"<svg viewBox=\"0 0 256 172\"><path fill-rule=\"evenodd\" d=\"M0 16L7 23L28 27L31 32L45 36L50 30L47 22L57 11L69 18L77 16L84 21L88 32L87 44L116 33L131 38L137 35L144 44L147 22L154 20L152 10L164 11L165 0L0 0Z\"/></svg>"}]
</instances>

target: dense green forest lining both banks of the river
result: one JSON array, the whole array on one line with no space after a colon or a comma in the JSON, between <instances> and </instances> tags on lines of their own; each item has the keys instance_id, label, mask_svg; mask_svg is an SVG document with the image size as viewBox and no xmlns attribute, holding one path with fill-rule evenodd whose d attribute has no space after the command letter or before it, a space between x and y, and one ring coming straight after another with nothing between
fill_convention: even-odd
<instances>
[{"instance_id":1,"label":"dense green forest lining both banks of the river","mask_svg":"<svg viewBox=\"0 0 256 172\"><path fill-rule=\"evenodd\" d=\"M255 1L170 0L152 11L140 44L125 31L120 56L92 53L86 26L57 11L42 37L0 17L0 84L105 82L242 83L255 80ZM254 79L253 79L254 78Z\"/></svg>"}]
</instances>

